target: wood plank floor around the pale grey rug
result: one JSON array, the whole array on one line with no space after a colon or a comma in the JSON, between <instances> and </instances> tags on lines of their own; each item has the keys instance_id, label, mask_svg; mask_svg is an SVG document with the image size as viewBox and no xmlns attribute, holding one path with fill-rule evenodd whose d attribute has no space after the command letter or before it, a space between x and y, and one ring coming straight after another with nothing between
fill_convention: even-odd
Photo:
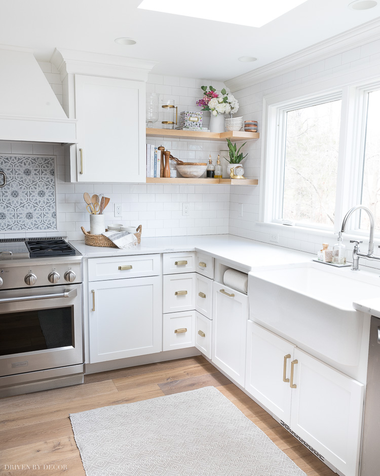
<instances>
[{"instance_id":1,"label":"wood plank floor around the pale grey rug","mask_svg":"<svg viewBox=\"0 0 380 476\"><path fill-rule=\"evenodd\" d=\"M83 385L0 399L0 474L85 476L69 413L207 386L220 390L308 476L335 474L202 356L95 373Z\"/></svg>"}]
</instances>

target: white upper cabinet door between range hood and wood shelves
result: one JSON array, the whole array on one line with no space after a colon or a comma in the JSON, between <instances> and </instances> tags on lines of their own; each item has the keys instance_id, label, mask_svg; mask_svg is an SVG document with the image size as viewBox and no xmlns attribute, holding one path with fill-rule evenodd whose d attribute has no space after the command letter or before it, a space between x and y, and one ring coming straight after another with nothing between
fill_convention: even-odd
<instances>
[{"instance_id":1,"label":"white upper cabinet door between range hood and wood shelves","mask_svg":"<svg viewBox=\"0 0 380 476\"><path fill-rule=\"evenodd\" d=\"M144 82L75 75L75 118L78 182L145 182Z\"/></svg>"}]
</instances>

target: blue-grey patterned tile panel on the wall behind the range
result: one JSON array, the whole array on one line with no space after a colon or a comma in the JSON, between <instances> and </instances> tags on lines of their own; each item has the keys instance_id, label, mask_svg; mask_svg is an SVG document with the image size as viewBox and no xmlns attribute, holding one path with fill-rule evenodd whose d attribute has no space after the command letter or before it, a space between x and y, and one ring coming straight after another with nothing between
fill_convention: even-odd
<instances>
[{"instance_id":1,"label":"blue-grey patterned tile panel on the wall behind the range","mask_svg":"<svg viewBox=\"0 0 380 476\"><path fill-rule=\"evenodd\" d=\"M2 231L56 230L55 157L0 155Z\"/></svg>"}]
</instances>

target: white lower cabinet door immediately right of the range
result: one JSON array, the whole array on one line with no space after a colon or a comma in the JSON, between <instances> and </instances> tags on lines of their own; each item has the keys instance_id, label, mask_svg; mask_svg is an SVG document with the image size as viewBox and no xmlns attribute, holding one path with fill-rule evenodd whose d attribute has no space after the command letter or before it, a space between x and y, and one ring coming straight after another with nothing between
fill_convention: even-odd
<instances>
[{"instance_id":1,"label":"white lower cabinet door immediately right of the range","mask_svg":"<svg viewBox=\"0 0 380 476\"><path fill-rule=\"evenodd\" d=\"M89 286L90 363L162 350L161 278Z\"/></svg>"}]
</instances>

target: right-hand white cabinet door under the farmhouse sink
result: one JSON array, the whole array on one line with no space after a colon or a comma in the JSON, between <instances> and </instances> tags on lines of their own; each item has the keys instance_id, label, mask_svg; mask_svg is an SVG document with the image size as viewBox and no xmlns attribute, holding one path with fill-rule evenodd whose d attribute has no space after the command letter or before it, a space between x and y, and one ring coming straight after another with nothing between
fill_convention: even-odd
<instances>
[{"instance_id":1,"label":"right-hand white cabinet door under the farmhouse sink","mask_svg":"<svg viewBox=\"0 0 380 476\"><path fill-rule=\"evenodd\" d=\"M345 476L358 474L364 385L294 349L290 428Z\"/></svg>"}]
</instances>

